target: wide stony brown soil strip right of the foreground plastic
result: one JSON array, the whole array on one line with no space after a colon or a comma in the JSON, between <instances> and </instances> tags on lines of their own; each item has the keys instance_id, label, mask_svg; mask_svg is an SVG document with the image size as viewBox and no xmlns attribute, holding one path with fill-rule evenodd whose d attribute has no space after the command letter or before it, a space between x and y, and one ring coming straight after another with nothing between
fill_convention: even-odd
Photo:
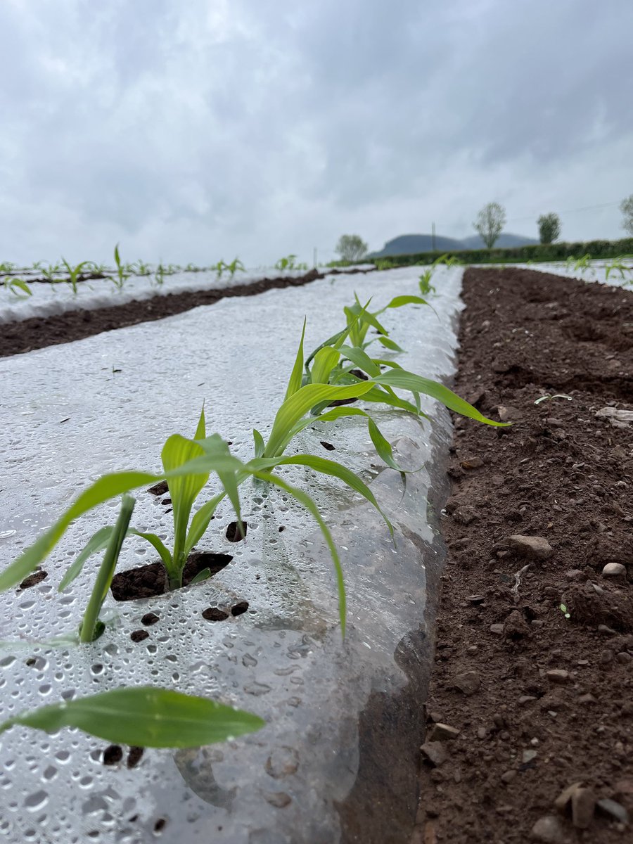
<instances>
[{"instance_id":1,"label":"wide stony brown soil strip right of the foreground plastic","mask_svg":"<svg viewBox=\"0 0 633 844\"><path fill-rule=\"evenodd\" d=\"M633 295L468 269L463 298L455 389L513 425L454 419L413 841L624 844L633 426L599 411L632 409Z\"/></svg>"}]
</instances>

